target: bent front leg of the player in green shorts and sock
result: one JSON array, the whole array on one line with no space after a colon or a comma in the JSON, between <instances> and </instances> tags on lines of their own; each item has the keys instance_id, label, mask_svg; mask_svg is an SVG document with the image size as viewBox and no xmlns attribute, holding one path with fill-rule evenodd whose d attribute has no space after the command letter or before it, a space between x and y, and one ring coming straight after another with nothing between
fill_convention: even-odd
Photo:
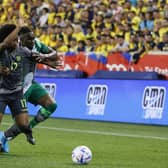
<instances>
[{"instance_id":1,"label":"bent front leg of the player in green shorts and sock","mask_svg":"<svg viewBox=\"0 0 168 168\"><path fill-rule=\"evenodd\" d=\"M51 114L56 110L57 104L40 84L33 84L31 86L31 89L32 90L31 93L29 93L28 101L41 106L35 117L30 121L30 126L33 128L38 123L43 122L44 120L49 118Z\"/></svg>"}]
</instances>

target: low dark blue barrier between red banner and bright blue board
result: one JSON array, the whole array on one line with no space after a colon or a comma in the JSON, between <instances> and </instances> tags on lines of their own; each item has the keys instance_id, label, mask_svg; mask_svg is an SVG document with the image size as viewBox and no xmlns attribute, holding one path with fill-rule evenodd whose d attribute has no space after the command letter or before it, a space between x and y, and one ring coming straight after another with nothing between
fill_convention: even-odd
<instances>
[{"instance_id":1,"label":"low dark blue barrier between red banner and bright blue board","mask_svg":"<svg viewBox=\"0 0 168 168\"><path fill-rule=\"evenodd\" d=\"M38 69L36 76L55 77L55 78L93 78L93 79L136 79L136 80L158 80L164 79L163 76L156 72L115 72L115 71L96 71L95 74L87 76L80 70L53 71L50 69Z\"/></svg>"}]
</instances>

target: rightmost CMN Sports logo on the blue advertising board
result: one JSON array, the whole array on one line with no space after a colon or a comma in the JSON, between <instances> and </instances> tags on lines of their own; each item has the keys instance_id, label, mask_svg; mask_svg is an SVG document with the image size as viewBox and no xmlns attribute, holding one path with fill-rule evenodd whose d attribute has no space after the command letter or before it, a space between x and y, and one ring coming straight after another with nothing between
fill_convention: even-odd
<instances>
[{"instance_id":1,"label":"rightmost CMN Sports logo on the blue advertising board","mask_svg":"<svg viewBox=\"0 0 168 168\"><path fill-rule=\"evenodd\" d=\"M166 97L166 88L161 86L147 86L144 89L142 108L145 119L161 119Z\"/></svg>"}]
</instances>

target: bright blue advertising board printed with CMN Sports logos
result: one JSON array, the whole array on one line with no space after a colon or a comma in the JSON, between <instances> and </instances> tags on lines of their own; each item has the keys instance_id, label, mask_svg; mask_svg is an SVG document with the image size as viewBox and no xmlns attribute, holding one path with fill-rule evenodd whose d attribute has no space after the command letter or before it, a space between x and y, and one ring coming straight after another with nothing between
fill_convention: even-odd
<instances>
[{"instance_id":1,"label":"bright blue advertising board printed with CMN Sports logos","mask_svg":"<svg viewBox=\"0 0 168 168\"><path fill-rule=\"evenodd\" d=\"M36 77L56 100L54 118L168 125L166 80ZM38 106L28 105L30 115ZM7 109L7 113L9 109Z\"/></svg>"}]
</instances>

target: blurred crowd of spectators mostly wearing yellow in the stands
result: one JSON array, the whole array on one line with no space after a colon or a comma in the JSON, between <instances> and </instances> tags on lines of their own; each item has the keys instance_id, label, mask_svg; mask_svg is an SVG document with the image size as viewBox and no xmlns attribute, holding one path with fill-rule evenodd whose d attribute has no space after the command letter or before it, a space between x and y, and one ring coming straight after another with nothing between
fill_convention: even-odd
<instances>
[{"instance_id":1,"label":"blurred crowd of spectators mostly wearing yellow in the stands","mask_svg":"<svg viewBox=\"0 0 168 168\"><path fill-rule=\"evenodd\" d=\"M0 0L0 25L19 17L58 52L168 51L168 0Z\"/></svg>"}]
</instances>

